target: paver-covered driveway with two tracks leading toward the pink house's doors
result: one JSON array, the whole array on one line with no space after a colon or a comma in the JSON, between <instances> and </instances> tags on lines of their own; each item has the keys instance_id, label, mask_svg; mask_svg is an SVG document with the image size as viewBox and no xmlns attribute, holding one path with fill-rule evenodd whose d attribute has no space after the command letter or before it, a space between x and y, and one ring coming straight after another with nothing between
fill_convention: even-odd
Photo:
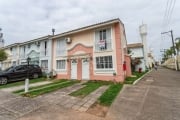
<instances>
[{"instance_id":1,"label":"paver-covered driveway with two tracks leading toward the pink house's doors","mask_svg":"<svg viewBox=\"0 0 180 120\"><path fill-rule=\"evenodd\" d=\"M103 119L85 111L107 89L107 86L100 87L84 99L68 95L82 87L84 87L82 83L78 83L36 98L25 98L0 91L0 120Z\"/></svg>"}]
</instances>

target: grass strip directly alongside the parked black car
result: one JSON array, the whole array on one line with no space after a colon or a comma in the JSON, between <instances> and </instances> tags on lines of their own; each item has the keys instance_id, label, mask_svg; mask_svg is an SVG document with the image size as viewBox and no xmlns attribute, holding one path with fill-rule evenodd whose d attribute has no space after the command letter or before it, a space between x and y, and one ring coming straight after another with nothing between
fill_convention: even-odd
<instances>
[{"instance_id":1,"label":"grass strip directly alongside the parked black car","mask_svg":"<svg viewBox=\"0 0 180 120\"><path fill-rule=\"evenodd\" d=\"M30 83L36 83L36 82L41 82L41 81L45 81L46 78L37 78L37 79L30 79L29 82ZM11 82L8 83L6 85L0 85L0 89L2 88L9 88L9 87L15 87L15 86L19 86L19 85L24 85L25 84L25 80L23 81L19 81L19 82Z\"/></svg>"}]
</instances>

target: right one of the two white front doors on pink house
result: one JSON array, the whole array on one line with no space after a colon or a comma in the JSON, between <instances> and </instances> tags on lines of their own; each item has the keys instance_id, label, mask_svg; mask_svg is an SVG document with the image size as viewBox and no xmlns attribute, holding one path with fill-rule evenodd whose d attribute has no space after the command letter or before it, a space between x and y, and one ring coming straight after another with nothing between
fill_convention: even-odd
<instances>
[{"instance_id":1,"label":"right one of the two white front doors on pink house","mask_svg":"<svg viewBox=\"0 0 180 120\"><path fill-rule=\"evenodd\" d=\"M89 60L82 59L82 79L89 80Z\"/></svg>"}]
</instances>

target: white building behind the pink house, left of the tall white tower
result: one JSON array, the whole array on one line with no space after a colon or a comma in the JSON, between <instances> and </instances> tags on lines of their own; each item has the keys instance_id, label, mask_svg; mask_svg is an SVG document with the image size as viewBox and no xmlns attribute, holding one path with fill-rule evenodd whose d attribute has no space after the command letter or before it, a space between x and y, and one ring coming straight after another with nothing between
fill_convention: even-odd
<instances>
[{"instance_id":1,"label":"white building behind the pink house, left of the tall white tower","mask_svg":"<svg viewBox=\"0 0 180 120\"><path fill-rule=\"evenodd\" d=\"M131 59L139 59L141 62L135 66L135 71L138 71L140 68L142 71L146 70L144 54L143 54L143 44L142 43L134 43L128 44L128 50L130 50Z\"/></svg>"}]
</instances>

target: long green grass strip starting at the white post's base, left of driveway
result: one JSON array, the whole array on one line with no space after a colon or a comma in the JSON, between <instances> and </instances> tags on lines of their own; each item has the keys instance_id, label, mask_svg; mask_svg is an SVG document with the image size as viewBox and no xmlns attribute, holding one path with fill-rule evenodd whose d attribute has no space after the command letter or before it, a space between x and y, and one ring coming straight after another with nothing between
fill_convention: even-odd
<instances>
[{"instance_id":1,"label":"long green grass strip starting at the white post's base, left of driveway","mask_svg":"<svg viewBox=\"0 0 180 120\"><path fill-rule=\"evenodd\" d=\"M71 85L73 85L75 83L78 83L78 82L79 81L70 81L70 82L62 83L60 85L54 84L54 85L46 87L46 88L42 88L42 89L40 88L40 89L37 89L37 90L30 91L28 93L24 93L24 94L22 94L22 96L36 97L38 95L42 95L42 94L45 94L45 93L56 91L56 90L64 88L64 87L71 86Z\"/></svg>"}]
</instances>

